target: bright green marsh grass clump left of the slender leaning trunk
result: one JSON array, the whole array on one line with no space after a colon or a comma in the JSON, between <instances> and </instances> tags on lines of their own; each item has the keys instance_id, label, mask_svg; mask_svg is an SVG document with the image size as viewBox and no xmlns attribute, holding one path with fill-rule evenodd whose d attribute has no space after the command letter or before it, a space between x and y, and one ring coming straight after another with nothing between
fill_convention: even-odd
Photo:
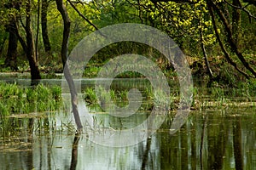
<instances>
[{"instance_id":1,"label":"bright green marsh grass clump left of the slender leaning trunk","mask_svg":"<svg viewBox=\"0 0 256 170\"><path fill-rule=\"evenodd\" d=\"M17 113L55 111L61 106L61 88L22 87L17 84L0 82L1 116Z\"/></svg>"}]
</instances>

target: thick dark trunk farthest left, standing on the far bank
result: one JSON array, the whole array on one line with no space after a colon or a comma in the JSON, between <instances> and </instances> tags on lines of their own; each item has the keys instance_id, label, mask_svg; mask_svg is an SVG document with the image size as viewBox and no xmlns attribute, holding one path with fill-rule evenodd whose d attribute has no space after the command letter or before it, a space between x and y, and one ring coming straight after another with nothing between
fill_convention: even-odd
<instances>
[{"instance_id":1,"label":"thick dark trunk farthest left, standing on the far bank","mask_svg":"<svg viewBox=\"0 0 256 170\"><path fill-rule=\"evenodd\" d=\"M15 20L11 20L9 26L7 26L7 30L9 31L9 43L7 56L4 60L4 65L9 66L12 70L17 71L17 46L18 46L18 38L15 35Z\"/></svg>"}]
</instances>

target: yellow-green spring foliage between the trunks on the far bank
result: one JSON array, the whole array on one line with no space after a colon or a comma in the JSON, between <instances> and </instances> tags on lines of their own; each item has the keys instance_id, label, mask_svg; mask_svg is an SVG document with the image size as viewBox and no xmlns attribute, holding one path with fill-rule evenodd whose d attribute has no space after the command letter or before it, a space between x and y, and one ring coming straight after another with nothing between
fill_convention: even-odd
<instances>
[{"instance_id":1,"label":"yellow-green spring foliage between the trunks on the far bank","mask_svg":"<svg viewBox=\"0 0 256 170\"><path fill-rule=\"evenodd\" d=\"M181 3L187 2L187 3ZM190 2L190 3L189 3ZM193 2L193 3L191 3ZM228 3L232 1L212 1L218 4L219 7L225 12L228 20L232 20L234 8L232 8ZM23 29L26 21L26 1L22 1L19 4L19 8L10 8L10 3L15 1L4 0L0 3L0 53L2 52L2 58L0 59L0 64L3 65L4 58L7 53L7 41L5 39L8 37L8 31L6 26L9 22L15 18L17 21L17 26L21 37L26 37L26 32ZM19 2L18 2L19 3ZM86 20L82 19L79 14L72 8L70 3L64 1L67 6L67 12L71 20L71 34L69 38L69 52L74 48L74 46L90 32L95 31L95 27L91 26ZM226 65L218 67L218 63L224 63L223 52L221 48L218 47L218 42L216 40L216 33L213 30L213 23L211 15L209 14L209 8L207 6L207 1L149 1L149 0L99 0L99 1L83 1L83 3L73 2L76 8L79 9L80 13L84 17L90 20L97 28L102 28L104 26L109 26L117 23L142 23L148 26L154 26L161 31L165 31L170 37L172 37L179 47L183 50L184 54L189 55L191 60L197 60L201 63L202 67L199 71L204 77L207 75L205 70L205 64L203 60L203 54L201 52L201 39L207 49L207 54L209 56L210 65L212 67L212 72L215 76L219 75L219 71L222 71L221 77L224 79L230 79L229 81L221 80L217 82L223 83L234 83L236 79L232 79L230 73L233 71L227 71ZM242 6L247 5L247 3L242 3ZM247 5L245 8L251 14L255 14L256 8L253 5ZM38 2L32 1L31 7L32 13L32 33L35 37L37 31L37 14L38 14ZM47 74L53 75L55 71L61 71L61 39L62 39L62 20L61 15L56 9L55 1L49 1L48 8L48 32L49 40L52 46L52 51L50 53L44 52L44 43L42 39L42 32L39 31L38 39L38 64L41 71L45 71ZM224 25L221 23L220 19L216 17L218 33L221 39L224 41L224 46L230 53L231 59L234 60L236 65L240 68L244 66L241 65L241 61L237 59L236 55L233 53L232 49L229 47L229 40L226 39L226 32L224 31ZM233 25L230 22L230 26ZM248 17L245 10L241 10L241 26L239 28L239 43L238 48L241 53L246 56L248 63L255 68L255 32L256 27L255 20L252 17ZM40 25L39 25L40 26ZM235 25L234 25L235 26ZM234 27L233 26L233 27ZM202 33L202 37L201 37ZM18 68L23 69L24 66L28 65L25 53L23 49L18 46ZM160 58L163 56L159 54L156 50L150 49L141 44L132 43L115 43L111 44L106 48L102 48L91 60L89 65L85 68L84 77L95 77L99 71L99 67L105 64L108 59L111 59L119 54L126 53L136 53L148 56L154 62L160 65L160 68L165 72L165 75L172 77L173 70L172 65L166 64L166 62L160 63ZM251 57L248 57L251 55ZM25 64L24 64L25 63ZM58 66L55 66L58 65ZM193 63L190 63L193 65ZM218 68L221 68L219 70ZM230 67L228 67L230 68ZM9 69L1 68L1 71L9 71ZM175 76L175 75L174 75ZM234 71L234 77L237 76L236 71ZM129 73L124 73L120 77L140 77L140 75ZM239 76L241 77L241 76Z\"/></svg>"}]
</instances>

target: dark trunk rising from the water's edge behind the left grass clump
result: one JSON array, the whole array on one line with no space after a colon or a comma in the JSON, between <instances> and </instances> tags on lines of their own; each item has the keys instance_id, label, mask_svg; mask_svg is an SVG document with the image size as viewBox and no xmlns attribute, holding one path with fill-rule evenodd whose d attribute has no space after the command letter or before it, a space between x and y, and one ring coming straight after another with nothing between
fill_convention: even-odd
<instances>
[{"instance_id":1,"label":"dark trunk rising from the water's edge behind the left grass clump","mask_svg":"<svg viewBox=\"0 0 256 170\"><path fill-rule=\"evenodd\" d=\"M36 80L41 79L38 69L38 61L36 60L35 45L32 37L31 28L31 0L26 2L26 58L28 59L32 84Z\"/></svg>"}]
</instances>

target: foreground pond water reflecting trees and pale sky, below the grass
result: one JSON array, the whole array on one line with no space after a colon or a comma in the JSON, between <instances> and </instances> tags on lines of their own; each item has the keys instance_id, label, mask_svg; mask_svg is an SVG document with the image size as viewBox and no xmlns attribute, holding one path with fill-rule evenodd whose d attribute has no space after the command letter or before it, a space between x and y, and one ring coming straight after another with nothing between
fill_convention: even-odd
<instances>
[{"instance_id":1,"label":"foreground pond water reflecting trees and pale sky, below the grass","mask_svg":"<svg viewBox=\"0 0 256 170\"><path fill-rule=\"evenodd\" d=\"M177 133L168 122L143 142L122 148L92 143L68 122L43 118L1 119L0 169L253 169L253 111L194 112ZM144 118L143 116L141 116ZM10 118L9 118L10 119ZM4 126L3 126L4 125Z\"/></svg>"}]
</instances>

